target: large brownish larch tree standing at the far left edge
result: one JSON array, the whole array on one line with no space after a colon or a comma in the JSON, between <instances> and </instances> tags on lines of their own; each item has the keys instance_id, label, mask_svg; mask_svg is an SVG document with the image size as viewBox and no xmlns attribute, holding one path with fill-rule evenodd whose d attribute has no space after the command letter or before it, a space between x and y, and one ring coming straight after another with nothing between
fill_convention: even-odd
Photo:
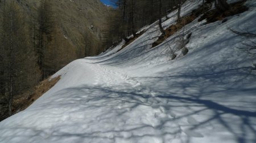
<instances>
[{"instance_id":1,"label":"large brownish larch tree standing at the far left edge","mask_svg":"<svg viewBox=\"0 0 256 143\"><path fill-rule=\"evenodd\" d=\"M12 115L13 97L30 88L33 83L33 50L30 43L29 28L24 21L24 12L16 1L7 1L1 20L1 86L8 98L9 115Z\"/></svg>"}]
</instances>

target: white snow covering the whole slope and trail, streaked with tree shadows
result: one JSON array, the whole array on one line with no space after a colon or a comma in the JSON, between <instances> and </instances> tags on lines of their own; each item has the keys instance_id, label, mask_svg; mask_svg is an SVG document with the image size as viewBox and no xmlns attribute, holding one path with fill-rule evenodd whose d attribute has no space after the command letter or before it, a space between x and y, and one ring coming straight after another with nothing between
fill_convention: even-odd
<instances>
[{"instance_id":1,"label":"white snow covering the whole slope and trail, streaked with tree shadows","mask_svg":"<svg viewBox=\"0 0 256 143\"><path fill-rule=\"evenodd\" d=\"M184 3L182 15L199 3ZM256 31L256 2L246 5L225 23L195 20L154 49L157 23L118 53L124 42L75 60L53 76L61 79L52 89L0 123L0 142L255 143L256 59L228 30ZM183 31L192 32L185 56Z\"/></svg>"}]
</instances>

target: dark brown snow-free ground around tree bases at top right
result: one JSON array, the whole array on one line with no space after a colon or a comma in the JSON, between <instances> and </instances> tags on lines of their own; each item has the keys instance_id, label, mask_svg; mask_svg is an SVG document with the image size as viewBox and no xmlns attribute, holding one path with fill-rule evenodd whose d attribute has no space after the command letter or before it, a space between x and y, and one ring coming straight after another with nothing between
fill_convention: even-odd
<instances>
[{"instance_id":1,"label":"dark brown snow-free ground around tree bases at top right","mask_svg":"<svg viewBox=\"0 0 256 143\"><path fill-rule=\"evenodd\" d=\"M207 19L207 23L213 23L219 20L224 20L223 22L225 22L226 17L241 14L242 12L247 11L248 7L243 5L245 2L246 0L232 3L230 4L229 10L226 10L224 12L217 11L216 9L207 11L203 16L201 16L199 21Z\"/></svg>"}]
</instances>

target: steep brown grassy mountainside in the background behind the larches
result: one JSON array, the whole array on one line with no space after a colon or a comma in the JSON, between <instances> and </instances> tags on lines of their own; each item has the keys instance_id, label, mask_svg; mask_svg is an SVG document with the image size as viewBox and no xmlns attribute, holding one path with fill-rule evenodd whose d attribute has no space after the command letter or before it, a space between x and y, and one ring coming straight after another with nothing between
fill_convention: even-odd
<instances>
[{"instance_id":1,"label":"steep brown grassy mountainside in the background behind the larches","mask_svg":"<svg viewBox=\"0 0 256 143\"><path fill-rule=\"evenodd\" d=\"M28 15L32 14L36 18L40 1L24 0L19 3ZM56 23L52 47L58 47L62 66L71 60L103 51L107 42L106 18L110 14L109 9L99 0L51 1L53 20Z\"/></svg>"}]
</instances>

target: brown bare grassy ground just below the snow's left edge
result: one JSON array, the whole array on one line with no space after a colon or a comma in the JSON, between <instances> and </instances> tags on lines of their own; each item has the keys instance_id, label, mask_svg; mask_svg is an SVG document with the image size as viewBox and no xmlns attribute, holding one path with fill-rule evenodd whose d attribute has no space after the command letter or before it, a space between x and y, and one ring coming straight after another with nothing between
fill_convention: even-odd
<instances>
[{"instance_id":1,"label":"brown bare grassy ground just below the snow's left edge","mask_svg":"<svg viewBox=\"0 0 256 143\"><path fill-rule=\"evenodd\" d=\"M41 97L44 93L46 93L49 89L51 89L57 81L60 80L60 76L55 77L54 79L43 80L34 89L28 90L27 92L15 96L13 99L13 113L17 113L25 110L28 106L30 106L36 99ZM3 102L3 103L2 103ZM8 118L8 100L2 100L1 102L1 117L0 121Z\"/></svg>"}]
</instances>

